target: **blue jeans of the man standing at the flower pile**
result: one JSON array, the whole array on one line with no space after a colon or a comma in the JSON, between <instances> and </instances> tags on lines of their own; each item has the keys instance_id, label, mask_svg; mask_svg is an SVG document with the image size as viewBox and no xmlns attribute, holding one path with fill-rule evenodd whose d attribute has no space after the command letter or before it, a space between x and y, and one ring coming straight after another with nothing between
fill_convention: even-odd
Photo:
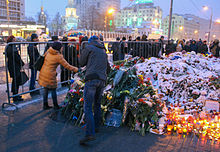
<instances>
[{"instance_id":1,"label":"blue jeans of the man standing at the flower pile","mask_svg":"<svg viewBox=\"0 0 220 152\"><path fill-rule=\"evenodd\" d=\"M84 87L84 113L86 122L86 135L95 135L95 128L99 128L101 122L101 99L105 87L105 81L90 80ZM94 115L92 112L92 105Z\"/></svg>"}]
</instances>

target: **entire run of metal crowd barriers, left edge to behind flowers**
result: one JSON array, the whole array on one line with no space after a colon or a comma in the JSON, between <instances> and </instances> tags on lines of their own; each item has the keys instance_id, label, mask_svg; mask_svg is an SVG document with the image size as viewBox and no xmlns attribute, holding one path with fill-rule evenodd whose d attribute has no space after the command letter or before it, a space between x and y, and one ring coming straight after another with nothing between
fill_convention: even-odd
<instances>
[{"instance_id":1,"label":"entire run of metal crowd barriers, left edge to behind flowers","mask_svg":"<svg viewBox=\"0 0 220 152\"><path fill-rule=\"evenodd\" d=\"M62 43L64 48L63 56L66 61L73 66L79 67L78 55L80 55L80 50L85 48L88 42L83 42L81 45L78 42ZM113 61L124 59L125 54L130 54L133 57L158 57L161 50L161 44L154 42L105 41L102 43L105 45L106 51L108 53L112 53ZM39 71L36 71L33 68L33 62L30 58L36 61L38 57L36 52L39 52L40 55L43 55L50 46L51 43L49 42L17 42L7 44L4 54L8 103L4 104L11 104L11 98L16 99L21 95L28 93L32 94L42 89L42 87L36 83L36 80L38 79L36 75L38 75ZM20 71L23 71L27 74L27 77L29 78L27 83L20 83L23 81L23 77L21 77L21 79L17 79ZM65 84L71 79L72 74L70 71L65 70L61 66L61 68L58 68L57 70L57 76L59 80L58 84Z\"/></svg>"}]
</instances>

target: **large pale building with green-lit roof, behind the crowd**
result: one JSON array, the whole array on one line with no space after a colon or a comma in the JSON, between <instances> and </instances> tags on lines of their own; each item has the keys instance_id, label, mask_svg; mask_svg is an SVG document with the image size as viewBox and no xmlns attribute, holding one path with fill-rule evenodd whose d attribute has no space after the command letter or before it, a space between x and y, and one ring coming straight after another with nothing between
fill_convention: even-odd
<instances>
[{"instance_id":1,"label":"large pale building with green-lit roof, behind the crowd","mask_svg":"<svg viewBox=\"0 0 220 152\"><path fill-rule=\"evenodd\" d=\"M138 30L139 34L160 35L162 24L162 9L154 6L153 1L139 0L134 5L125 7L115 16L117 30L126 29L129 32Z\"/></svg>"}]
</instances>

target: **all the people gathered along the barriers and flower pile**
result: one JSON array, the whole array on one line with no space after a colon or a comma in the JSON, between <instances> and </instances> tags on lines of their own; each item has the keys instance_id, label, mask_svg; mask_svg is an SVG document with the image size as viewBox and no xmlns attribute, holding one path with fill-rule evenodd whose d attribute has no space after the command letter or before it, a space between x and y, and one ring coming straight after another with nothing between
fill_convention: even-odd
<instances>
[{"instance_id":1,"label":"all the people gathered along the barriers and flower pile","mask_svg":"<svg viewBox=\"0 0 220 152\"><path fill-rule=\"evenodd\" d=\"M30 77L30 94L35 95L39 92L35 91L35 82L38 71L35 69L34 64L40 57L38 50L38 35L31 35L31 42L27 47L29 56L29 68L31 70ZM72 40L75 41L75 40ZM148 43L151 42L152 43ZM15 37L10 36L7 43L15 42ZM83 43L86 42L86 43ZM210 52L219 57L219 41L213 41L209 46L206 41L195 40L185 41L178 40L174 44L173 40L168 41L165 46L164 37L161 36L159 40L148 40L146 35L137 37L132 40L129 37L128 41L125 37L120 39L116 38L116 42L109 43L108 50L113 53L113 61L124 60L126 54L132 56L148 56L150 52L155 53L156 57L162 56L164 53L169 55L173 52L190 52L208 53ZM48 93L51 91L54 109L60 109L57 101L57 73L56 69L61 65L61 81L71 79L71 73L80 72L80 67L86 67L85 73L85 87L84 87L84 113L86 122L86 136L80 140L80 144L95 140L95 132L99 129L101 119L101 99L102 93L107 80L107 73L110 71L108 56L103 42L102 36L92 36L90 38L83 37L80 43L70 43L68 38L64 37L62 42L59 41L57 36L52 37L52 41L47 44L44 51L44 63L39 71L38 83L44 87L43 93L43 109L47 110L52 107L48 104ZM149 51L151 50L151 51ZM146 55L147 54L147 55ZM6 55L8 58L8 70L12 78L12 93L18 94L19 86L21 85L21 70L24 62L21 59L19 50L15 45L9 44L6 48ZM150 54L151 56L153 54ZM64 83L66 84L66 83ZM22 101L21 96L14 97L14 101Z\"/></svg>"}]
</instances>

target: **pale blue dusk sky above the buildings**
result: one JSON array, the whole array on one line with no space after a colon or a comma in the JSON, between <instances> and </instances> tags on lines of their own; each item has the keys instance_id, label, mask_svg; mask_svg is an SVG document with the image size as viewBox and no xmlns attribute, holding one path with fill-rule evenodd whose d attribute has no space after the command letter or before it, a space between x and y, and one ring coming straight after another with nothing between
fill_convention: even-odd
<instances>
[{"instance_id":1,"label":"pale blue dusk sky above the buildings","mask_svg":"<svg viewBox=\"0 0 220 152\"><path fill-rule=\"evenodd\" d=\"M57 12L65 14L65 7L68 0L43 0L45 11L49 18L53 19ZM130 4L129 0L121 0L122 8ZM170 0L154 0L156 6L163 10L163 16L169 14ZM210 11L203 11L202 6L207 5L213 8L214 20L220 19L220 0L174 0L174 13L190 13L206 19L210 18ZM26 16L36 18L40 11L41 0L26 0Z\"/></svg>"}]
</instances>

